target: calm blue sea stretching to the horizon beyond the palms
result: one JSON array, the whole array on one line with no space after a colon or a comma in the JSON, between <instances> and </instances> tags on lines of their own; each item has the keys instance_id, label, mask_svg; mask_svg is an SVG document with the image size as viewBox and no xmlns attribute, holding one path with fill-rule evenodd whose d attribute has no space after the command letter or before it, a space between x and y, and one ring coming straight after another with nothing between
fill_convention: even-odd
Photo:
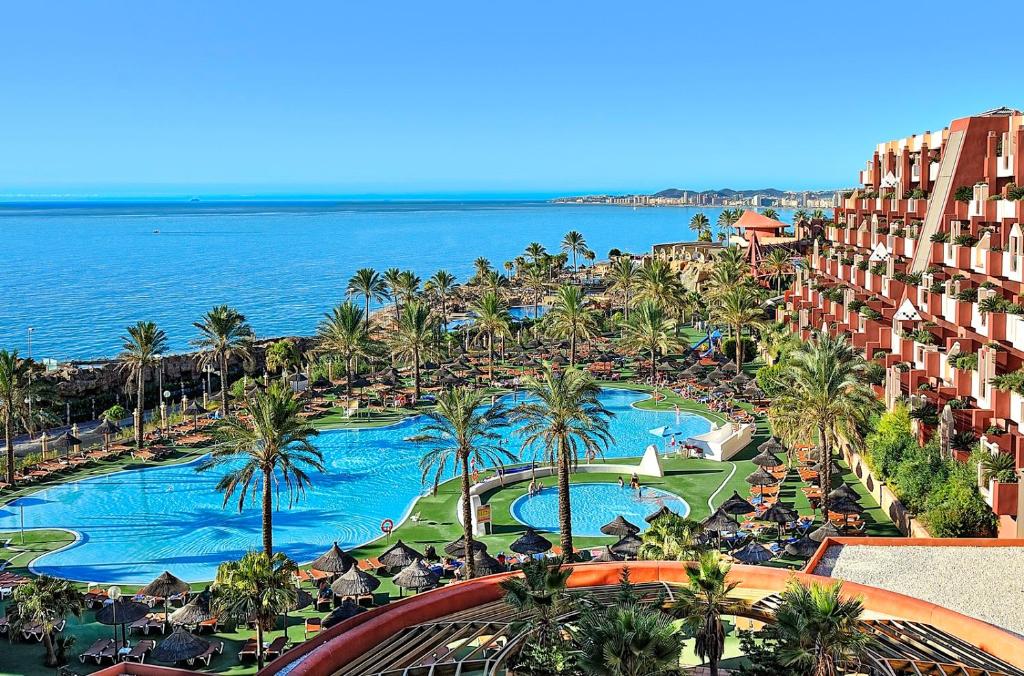
<instances>
[{"instance_id":1,"label":"calm blue sea stretching to the horizon beyond the palms","mask_svg":"<svg viewBox=\"0 0 1024 676\"><path fill-rule=\"evenodd\" d=\"M690 208L528 202L0 205L0 346L35 356L113 356L154 321L182 350L215 304L260 336L309 334L359 267L499 269L531 241L557 250L581 230L599 258L692 238ZM720 209L703 209L714 223ZM159 230L159 234L156 233Z\"/></svg>"}]
</instances>

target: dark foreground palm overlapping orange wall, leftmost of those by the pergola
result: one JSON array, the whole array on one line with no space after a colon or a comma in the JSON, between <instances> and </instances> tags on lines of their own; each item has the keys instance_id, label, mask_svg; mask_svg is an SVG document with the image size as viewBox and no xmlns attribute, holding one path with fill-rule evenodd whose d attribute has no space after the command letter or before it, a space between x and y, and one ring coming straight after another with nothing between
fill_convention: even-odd
<instances>
[{"instance_id":1,"label":"dark foreground palm overlapping orange wall, leftmost of those by the pergola","mask_svg":"<svg viewBox=\"0 0 1024 676\"><path fill-rule=\"evenodd\" d=\"M566 648L558 618L573 606L566 585L572 568L562 566L562 558L530 559L522 565L522 577L509 577L499 586L504 600L526 616L527 638L518 669L530 674L560 674L571 671L572 654Z\"/></svg>"}]
</instances>

